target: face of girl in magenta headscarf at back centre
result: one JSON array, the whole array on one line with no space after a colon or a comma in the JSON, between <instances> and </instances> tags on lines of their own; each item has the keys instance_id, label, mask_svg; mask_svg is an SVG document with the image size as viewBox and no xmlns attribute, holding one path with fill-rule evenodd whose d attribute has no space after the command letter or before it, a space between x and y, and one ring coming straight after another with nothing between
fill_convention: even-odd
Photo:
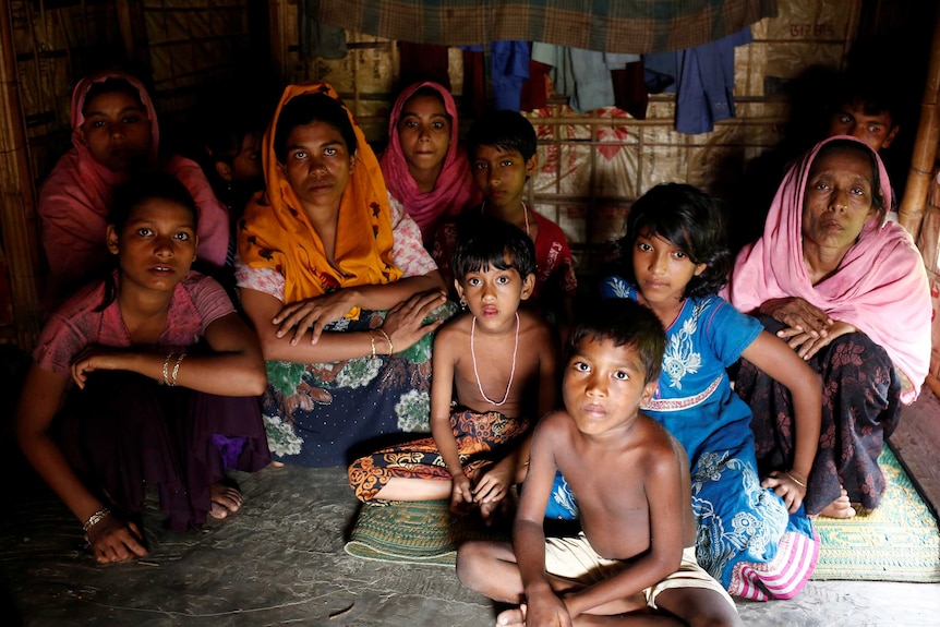
<instances>
[{"instance_id":1,"label":"face of girl in magenta headscarf at back centre","mask_svg":"<svg viewBox=\"0 0 940 627\"><path fill-rule=\"evenodd\" d=\"M398 141L408 170L427 172L444 166L450 148L450 119L444 103L434 96L412 96L398 119Z\"/></svg>"}]
</instances>

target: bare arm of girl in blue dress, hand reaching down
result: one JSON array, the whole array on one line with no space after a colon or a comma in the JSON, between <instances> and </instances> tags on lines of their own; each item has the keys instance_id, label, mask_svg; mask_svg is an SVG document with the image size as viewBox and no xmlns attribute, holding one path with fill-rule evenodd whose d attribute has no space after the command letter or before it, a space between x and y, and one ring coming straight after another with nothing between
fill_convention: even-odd
<instances>
[{"instance_id":1,"label":"bare arm of girl in blue dress, hand reaching down","mask_svg":"<svg viewBox=\"0 0 940 627\"><path fill-rule=\"evenodd\" d=\"M785 501L790 511L794 513L806 497L807 479L819 446L822 383L819 375L783 340L767 331L762 331L742 352L742 357L785 385L793 397L796 442L793 466L790 469L792 477L787 477L786 472L772 472L770 478L763 481L763 485L773 487Z\"/></svg>"}]
</instances>

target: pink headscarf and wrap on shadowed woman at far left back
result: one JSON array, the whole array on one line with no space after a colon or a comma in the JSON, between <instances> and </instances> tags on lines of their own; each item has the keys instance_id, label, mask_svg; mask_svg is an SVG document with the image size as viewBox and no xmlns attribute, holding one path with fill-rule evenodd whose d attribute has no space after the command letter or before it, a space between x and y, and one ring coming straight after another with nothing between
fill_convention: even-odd
<instances>
[{"instance_id":1,"label":"pink headscarf and wrap on shadowed woman at far left back","mask_svg":"<svg viewBox=\"0 0 940 627\"><path fill-rule=\"evenodd\" d=\"M63 296L58 293L62 288L77 287L74 285L76 281L87 278L108 258L105 236L111 190L124 181L128 173L112 171L96 161L79 132L85 123L82 110L88 89L108 79L124 80L137 91L150 119L150 166L161 166L193 195L200 209L200 258L219 267L225 264L229 241L228 215L202 169L195 161L180 156L172 156L160 164L157 156L160 140L157 112L146 88L130 74L100 72L82 79L75 85L72 92L72 148L59 159L39 192L37 212L49 262L47 304Z\"/></svg>"}]
</instances>

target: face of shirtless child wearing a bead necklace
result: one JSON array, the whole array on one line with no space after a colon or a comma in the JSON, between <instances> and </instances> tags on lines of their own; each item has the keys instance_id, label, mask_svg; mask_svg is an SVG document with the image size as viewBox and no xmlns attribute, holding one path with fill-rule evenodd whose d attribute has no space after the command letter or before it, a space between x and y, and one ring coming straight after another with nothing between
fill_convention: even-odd
<instances>
[{"instance_id":1,"label":"face of shirtless child wearing a bead necklace","mask_svg":"<svg viewBox=\"0 0 940 627\"><path fill-rule=\"evenodd\" d=\"M486 269L467 273L461 280L455 279L454 285L460 300L477 317L477 323L497 331L516 324L519 302L532 294L535 275L523 279L514 267L501 270L491 265Z\"/></svg>"}]
</instances>

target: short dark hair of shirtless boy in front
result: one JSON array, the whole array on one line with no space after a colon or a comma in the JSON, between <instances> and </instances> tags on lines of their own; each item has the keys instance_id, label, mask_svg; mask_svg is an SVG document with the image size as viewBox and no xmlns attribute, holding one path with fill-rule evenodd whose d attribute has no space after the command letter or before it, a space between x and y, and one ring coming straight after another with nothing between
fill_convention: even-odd
<instances>
[{"instance_id":1,"label":"short dark hair of shirtless boy in front","mask_svg":"<svg viewBox=\"0 0 940 627\"><path fill-rule=\"evenodd\" d=\"M586 303L568 338L568 357L586 340L610 340L636 349L643 363L643 384L656 381L663 367L666 334L656 314L632 299L598 299Z\"/></svg>"}]
</instances>

